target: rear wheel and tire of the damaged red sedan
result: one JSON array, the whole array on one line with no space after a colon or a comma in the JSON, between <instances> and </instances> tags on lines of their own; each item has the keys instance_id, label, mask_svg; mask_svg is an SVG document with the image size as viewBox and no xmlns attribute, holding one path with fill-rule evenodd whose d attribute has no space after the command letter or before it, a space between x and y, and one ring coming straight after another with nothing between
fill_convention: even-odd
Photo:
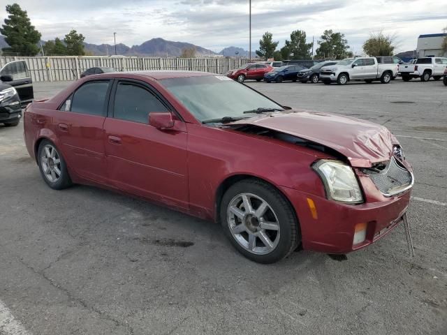
<instances>
[{"instance_id":1,"label":"rear wheel and tire of the damaged red sedan","mask_svg":"<svg viewBox=\"0 0 447 335\"><path fill-rule=\"evenodd\" d=\"M39 144L37 158L42 178L50 188L53 190L61 190L73 184L68 174L64 157L62 157L59 149L52 142L43 140Z\"/></svg>"}]
</instances>

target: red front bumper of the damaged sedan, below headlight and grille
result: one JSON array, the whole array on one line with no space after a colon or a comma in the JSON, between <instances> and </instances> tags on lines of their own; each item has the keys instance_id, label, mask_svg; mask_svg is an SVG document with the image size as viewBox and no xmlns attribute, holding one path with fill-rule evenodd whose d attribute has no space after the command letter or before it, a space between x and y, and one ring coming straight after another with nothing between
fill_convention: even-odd
<instances>
[{"instance_id":1,"label":"red front bumper of the damaged sedan, below headlight and grille","mask_svg":"<svg viewBox=\"0 0 447 335\"><path fill-rule=\"evenodd\" d=\"M342 204L292 188L281 188L291 201L302 234L304 249L323 253L349 253L364 248L393 230L409 206L411 190L379 202ZM309 208L314 202L316 215ZM366 223L366 239L353 244L355 227Z\"/></svg>"}]
</instances>

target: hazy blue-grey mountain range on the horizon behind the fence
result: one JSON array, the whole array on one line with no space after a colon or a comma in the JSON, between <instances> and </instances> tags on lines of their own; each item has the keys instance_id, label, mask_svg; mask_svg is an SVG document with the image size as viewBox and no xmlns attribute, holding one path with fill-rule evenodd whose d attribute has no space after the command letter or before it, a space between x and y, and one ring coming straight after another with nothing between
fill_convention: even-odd
<instances>
[{"instance_id":1,"label":"hazy blue-grey mountain range on the horizon behind the fence","mask_svg":"<svg viewBox=\"0 0 447 335\"><path fill-rule=\"evenodd\" d=\"M45 41L42 41L45 43ZM0 35L0 48L8 47L5 37ZM184 42L174 42L172 40L164 40L163 38L152 38L140 45L128 47L122 43L117 44L116 54L122 56L140 56L140 57L179 57L183 50L194 48L196 56L217 56L216 52L205 49L198 45ZM84 43L84 49L87 54L94 56L105 56L115 54L115 46L110 44L96 45L92 43ZM237 52L237 54L236 54ZM219 54L223 57L248 57L247 50L241 47L226 47ZM255 57L256 53L251 52L251 57Z\"/></svg>"}]
</instances>

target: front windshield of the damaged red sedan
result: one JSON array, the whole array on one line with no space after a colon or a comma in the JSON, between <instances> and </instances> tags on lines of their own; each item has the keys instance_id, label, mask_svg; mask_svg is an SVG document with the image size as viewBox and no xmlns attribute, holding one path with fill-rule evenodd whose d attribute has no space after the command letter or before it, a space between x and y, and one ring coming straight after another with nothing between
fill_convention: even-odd
<instances>
[{"instance_id":1,"label":"front windshield of the damaged red sedan","mask_svg":"<svg viewBox=\"0 0 447 335\"><path fill-rule=\"evenodd\" d=\"M251 117L247 110L284 108L258 92L221 75L160 81L199 121L222 117Z\"/></svg>"}]
</instances>

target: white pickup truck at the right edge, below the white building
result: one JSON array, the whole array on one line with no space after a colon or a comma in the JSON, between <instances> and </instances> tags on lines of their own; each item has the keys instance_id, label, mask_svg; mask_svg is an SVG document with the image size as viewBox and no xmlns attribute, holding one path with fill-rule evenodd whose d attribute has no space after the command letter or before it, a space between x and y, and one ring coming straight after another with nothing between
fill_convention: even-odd
<instances>
[{"instance_id":1,"label":"white pickup truck at the right edge, below the white building","mask_svg":"<svg viewBox=\"0 0 447 335\"><path fill-rule=\"evenodd\" d=\"M418 58L414 64L401 64L399 72L404 82L419 77L421 82L427 82L430 77L433 77L434 80L440 80L446 67L447 58L424 57Z\"/></svg>"}]
</instances>

